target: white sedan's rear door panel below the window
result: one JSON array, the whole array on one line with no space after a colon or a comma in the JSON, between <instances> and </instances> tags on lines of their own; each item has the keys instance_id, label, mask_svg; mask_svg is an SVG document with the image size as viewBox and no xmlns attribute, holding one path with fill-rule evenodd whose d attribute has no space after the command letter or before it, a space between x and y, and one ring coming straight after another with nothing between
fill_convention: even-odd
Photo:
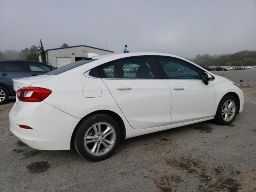
<instances>
[{"instance_id":1,"label":"white sedan's rear door panel below the window","mask_svg":"<svg viewBox=\"0 0 256 192\"><path fill-rule=\"evenodd\" d=\"M165 126L172 121L172 95L164 80L103 79L103 82L133 128ZM132 89L118 90L120 86Z\"/></svg>"}]
</instances>

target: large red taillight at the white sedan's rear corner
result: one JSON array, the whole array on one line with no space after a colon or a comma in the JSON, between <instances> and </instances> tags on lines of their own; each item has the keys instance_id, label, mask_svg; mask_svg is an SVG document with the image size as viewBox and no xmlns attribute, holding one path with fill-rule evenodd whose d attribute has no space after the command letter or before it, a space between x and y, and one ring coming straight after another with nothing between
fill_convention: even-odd
<instances>
[{"instance_id":1,"label":"large red taillight at the white sedan's rear corner","mask_svg":"<svg viewBox=\"0 0 256 192\"><path fill-rule=\"evenodd\" d=\"M42 87L24 87L17 90L17 97L20 101L25 102L40 102L45 100L51 90Z\"/></svg>"}]
</instances>

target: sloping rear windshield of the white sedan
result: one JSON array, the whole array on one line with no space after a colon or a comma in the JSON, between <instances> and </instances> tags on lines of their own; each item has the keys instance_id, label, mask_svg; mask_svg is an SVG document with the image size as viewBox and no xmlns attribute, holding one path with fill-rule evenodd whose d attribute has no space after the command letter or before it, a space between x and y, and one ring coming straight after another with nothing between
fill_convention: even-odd
<instances>
[{"instance_id":1,"label":"sloping rear windshield of the white sedan","mask_svg":"<svg viewBox=\"0 0 256 192\"><path fill-rule=\"evenodd\" d=\"M64 65L60 68L57 68L57 69L54 69L52 71L49 71L48 73L45 73L44 75L58 75L60 73L63 73L63 72L66 72L70 69L73 69L73 68L76 68L76 67L79 67L81 65L84 65L86 63L90 63L92 61L95 61L97 59L85 59L85 60L80 60L80 61L77 61L77 62L74 62L74 63L70 63L70 64L67 64L67 65Z\"/></svg>"}]
</instances>

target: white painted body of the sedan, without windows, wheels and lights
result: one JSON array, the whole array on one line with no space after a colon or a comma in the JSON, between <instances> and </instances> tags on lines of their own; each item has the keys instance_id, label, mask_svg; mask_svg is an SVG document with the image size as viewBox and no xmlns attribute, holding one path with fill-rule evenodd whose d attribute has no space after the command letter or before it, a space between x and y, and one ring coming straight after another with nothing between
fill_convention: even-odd
<instances>
[{"instance_id":1,"label":"white painted body of the sedan, without windows, wheels and lights","mask_svg":"<svg viewBox=\"0 0 256 192\"><path fill-rule=\"evenodd\" d=\"M221 98L228 92L239 96L240 112L243 110L242 90L230 80L208 71L215 77L209 85L200 80L164 79L122 79L110 83L109 79L84 75L88 70L106 62L141 55L179 58L204 70L186 59L170 54L130 53L96 56L94 58L98 60L58 75L14 79L15 90L36 86L50 89L52 93L42 102L21 102L16 99L9 114L10 130L32 148L68 150L78 122L98 110L108 110L120 116L125 126L125 138L213 119ZM132 89L120 91L116 89L118 86L131 86ZM174 86L183 86L185 89L174 91ZM140 87L144 90L139 90ZM182 95L182 92L185 94ZM201 107L197 107L199 104ZM19 124L30 126L33 130L20 128Z\"/></svg>"}]
</instances>

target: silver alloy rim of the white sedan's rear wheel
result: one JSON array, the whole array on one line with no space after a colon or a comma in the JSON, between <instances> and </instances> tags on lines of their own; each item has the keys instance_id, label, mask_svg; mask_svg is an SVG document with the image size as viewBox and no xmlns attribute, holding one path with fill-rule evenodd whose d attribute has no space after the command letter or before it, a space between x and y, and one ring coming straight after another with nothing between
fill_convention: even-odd
<instances>
[{"instance_id":1,"label":"silver alloy rim of the white sedan's rear wheel","mask_svg":"<svg viewBox=\"0 0 256 192\"><path fill-rule=\"evenodd\" d=\"M116 132L110 124L99 122L92 125L84 136L84 146L87 152L101 156L109 152L116 141Z\"/></svg>"}]
</instances>

